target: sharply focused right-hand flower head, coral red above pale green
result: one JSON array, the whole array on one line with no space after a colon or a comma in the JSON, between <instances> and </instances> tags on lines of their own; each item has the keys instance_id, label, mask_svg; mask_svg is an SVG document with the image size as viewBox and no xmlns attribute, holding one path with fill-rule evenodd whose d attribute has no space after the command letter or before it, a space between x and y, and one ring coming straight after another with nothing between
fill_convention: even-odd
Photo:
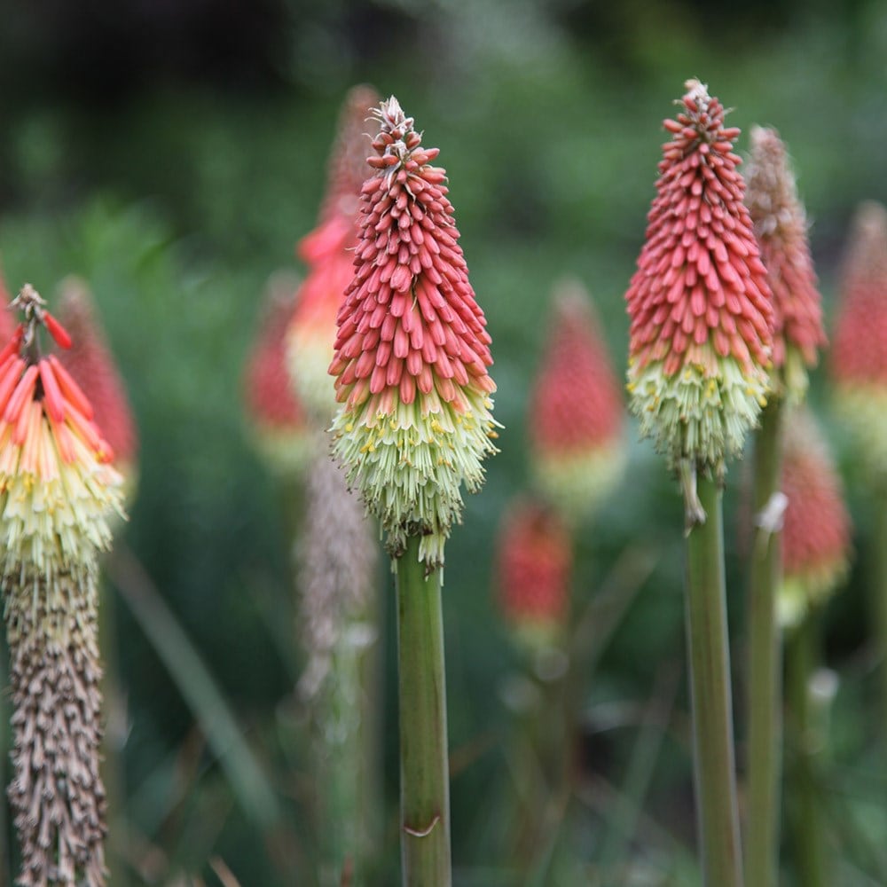
<instances>
[{"instance_id":1,"label":"sharply focused right-hand flower head, coral red above pale green","mask_svg":"<svg viewBox=\"0 0 887 887\"><path fill-rule=\"evenodd\" d=\"M629 391L640 430L673 465L717 466L742 450L765 404L773 308L735 128L702 83L666 120L657 195L625 299Z\"/></svg>"}]
</instances>

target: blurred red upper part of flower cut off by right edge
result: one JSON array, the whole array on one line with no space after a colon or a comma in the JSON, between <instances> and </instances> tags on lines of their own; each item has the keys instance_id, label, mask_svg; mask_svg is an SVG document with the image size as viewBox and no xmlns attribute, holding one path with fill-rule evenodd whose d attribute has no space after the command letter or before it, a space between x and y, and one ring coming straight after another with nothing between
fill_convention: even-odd
<instances>
[{"instance_id":1,"label":"blurred red upper part of flower cut off by right edge","mask_svg":"<svg viewBox=\"0 0 887 887\"><path fill-rule=\"evenodd\" d=\"M834 340L836 381L887 386L887 210L875 202L852 225Z\"/></svg>"}]
</instances>

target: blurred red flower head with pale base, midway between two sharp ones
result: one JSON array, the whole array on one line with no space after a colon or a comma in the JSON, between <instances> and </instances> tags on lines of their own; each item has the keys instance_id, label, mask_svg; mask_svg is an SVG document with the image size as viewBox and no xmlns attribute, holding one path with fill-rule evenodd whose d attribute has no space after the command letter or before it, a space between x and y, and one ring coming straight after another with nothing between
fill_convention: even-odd
<instances>
[{"instance_id":1,"label":"blurred red flower head with pale base, midway between two sharp ones","mask_svg":"<svg viewBox=\"0 0 887 887\"><path fill-rule=\"evenodd\" d=\"M622 394L591 303L581 284L564 282L530 396L529 431L539 488L568 520L593 514L619 483L622 430Z\"/></svg>"}]
</instances>

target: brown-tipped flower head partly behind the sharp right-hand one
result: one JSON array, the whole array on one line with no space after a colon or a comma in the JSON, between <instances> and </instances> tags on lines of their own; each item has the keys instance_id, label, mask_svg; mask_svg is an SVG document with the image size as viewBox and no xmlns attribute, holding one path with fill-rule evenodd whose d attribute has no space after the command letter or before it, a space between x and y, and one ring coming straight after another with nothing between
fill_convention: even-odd
<instances>
[{"instance_id":1,"label":"brown-tipped flower head partly behind the sharp right-hand one","mask_svg":"<svg viewBox=\"0 0 887 887\"><path fill-rule=\"evenodd\" d=\"M816 365L826 334L804 207L797 197L785 145L775 130L751 130L746 204L773 292L777 393L797 403L806 394L807 368Z\"/></svg>"}]
</instances>

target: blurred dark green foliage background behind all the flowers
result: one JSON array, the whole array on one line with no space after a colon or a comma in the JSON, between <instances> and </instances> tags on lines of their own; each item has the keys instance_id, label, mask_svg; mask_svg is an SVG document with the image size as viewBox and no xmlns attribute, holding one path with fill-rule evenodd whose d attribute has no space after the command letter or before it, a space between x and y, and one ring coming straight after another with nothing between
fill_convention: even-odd
<instances>
[{"instance_id":1,"label":"blurred dark green foliage background behind all the flowers","mask_svg":"<svg viewBox=\"0 0 887 887\"><path fill-rule=\"evenodd\" d=\"M480 887L562 883L544 866L530 882L504 854L521 773L509 763L503 702L514 650L491 596L498 521L527 486L527 393L553 284L571 274L589 288L621 373L623 294L654 193L661 121L697 76L734 108L742 151L754 122L788 143L833 318L852 211L887 200L885 67L887 4L866 0L0 3L5 278L50 299L72 272L92 287L141 439L124 545L169 608L137 612L111 583L131 883L224 883L218 860L244 887L313 883L287 514L251 445L241 376L267 280L300 271L294 243L315 223L349 87L396 94L426 144L440 147L493 337L502 451L448 546L444 588L456 879ZM887 883L883 730L867 639L871 521L828 418L825 367L812 402L842 460L856 524L852 575L828 610L828 663L839 677L823 799L829 846L839 883ZM624 802L637 814L625 845L650 860L643 883L692 884L681 503L633 425L625 446L624 484L585 528L577 561L577 608L608 582L631 587L581 700L583 783L570 839L593 862ZM731 467L727 498L737 651L742 475ZM620 579L626 563L648 556L647 577ZM135 561L115 581L137 598L147 580ZM387 573L381 580L391 585ZM177 667L158 655L164 639ZM202 672L194 678L189 649L214 686ZM663 685L669 670L678 677ZM394 676L389 652L388 863L378 883L396 883ZM655 742L639 743L651 710L666 715ZM13 866L4 860L0 882Z\"/></svg>"}]
</instances>

